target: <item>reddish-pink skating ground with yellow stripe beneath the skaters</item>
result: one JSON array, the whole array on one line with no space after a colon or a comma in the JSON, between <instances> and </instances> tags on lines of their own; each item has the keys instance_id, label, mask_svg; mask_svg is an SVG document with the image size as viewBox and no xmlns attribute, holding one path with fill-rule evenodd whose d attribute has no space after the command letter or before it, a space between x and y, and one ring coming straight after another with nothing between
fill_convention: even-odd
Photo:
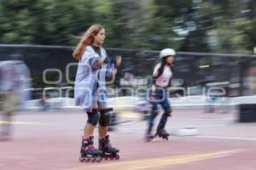
<instances>
[{"instance_id":1,"label":"reddish-pink skating ground with yellow stripe beneath the skaters","mask_svg":"<svg viewBox=\"0 0 256 170\"><path fill-rule=\"evenodd\" d=\"M119 110L122 123L109 134L120 150L120 160L87 163L79 162L86 120L80 111L19 112L14 117L13 136L0 140L0 169L255 170L256 123L236 123L236 117L234 109L229 113L174 109L166 125L173 133L169 140L145 143L146 123L133 111ZM199 134L174 135L183 127L196 127Z\"/></svg>"}]
</instances>

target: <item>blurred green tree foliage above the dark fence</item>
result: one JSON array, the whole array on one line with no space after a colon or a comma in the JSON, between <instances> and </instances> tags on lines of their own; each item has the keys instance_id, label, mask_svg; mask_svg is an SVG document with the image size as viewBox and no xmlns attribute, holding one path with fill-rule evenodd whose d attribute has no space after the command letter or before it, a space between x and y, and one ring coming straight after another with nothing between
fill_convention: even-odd
<instances>
[{"instance_id":1,"label":"blurred green tree foliage above the dark fence","mask_svg":"<svg viewBox=\"0 0 256 170\"><path fill-rule=\"evenodd\" d=\"M238 0L1 0L0 43L75 46L99 23L105 47L251 53L255 11Z\"/></svg>"}]
</instances>

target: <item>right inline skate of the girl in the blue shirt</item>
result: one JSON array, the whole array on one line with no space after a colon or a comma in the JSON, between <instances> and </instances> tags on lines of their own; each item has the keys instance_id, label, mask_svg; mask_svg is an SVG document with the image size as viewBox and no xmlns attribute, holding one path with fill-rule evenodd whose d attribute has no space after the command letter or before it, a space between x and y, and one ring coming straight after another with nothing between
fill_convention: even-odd
<instances>
[{"instance_id":1,"label":"right inline skate of the girl in the blue shirt","mask_svg":"<svg viewBox=\"0 0 256 170\"><path fill-rule=\"evenodd\" d=\"M102 150L102 158L105 160L119 160L118 149L111 146L109 142L109 135L105 138L99 139L99 150Z\"/></svg>"}]
</instances>

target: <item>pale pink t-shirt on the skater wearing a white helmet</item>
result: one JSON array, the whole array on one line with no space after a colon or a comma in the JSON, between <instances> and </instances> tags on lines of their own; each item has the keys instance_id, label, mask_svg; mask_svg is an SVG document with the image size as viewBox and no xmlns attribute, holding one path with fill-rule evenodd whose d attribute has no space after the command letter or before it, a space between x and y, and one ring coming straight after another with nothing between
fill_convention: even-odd
<instances>
[{"instance_id":1,"label":"pale pink t-shirt on the skater wearing a white helmet","mask_svg":"<svg viewBox=\"0 0 256 170\"><path fill-rule=\"evenodd\" d=\"M157 71L159 70L161 64L155 65L153 75L157 76ZM170 79L172 78L172 70L170 66L165 66L165 69L160 77L156 79L156 85L165 88Z\"/></svg>"}]
</instances>

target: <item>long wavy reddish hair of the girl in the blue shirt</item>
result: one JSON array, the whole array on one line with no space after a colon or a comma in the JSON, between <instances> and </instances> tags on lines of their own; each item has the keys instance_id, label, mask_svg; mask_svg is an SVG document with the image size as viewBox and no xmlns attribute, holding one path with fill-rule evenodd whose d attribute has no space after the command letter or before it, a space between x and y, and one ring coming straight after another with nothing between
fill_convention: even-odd
<instances>
[{"instance_id":1,"label":"long wavy reddish hair of the girl in the blue shirt","mask_svg":"<svg viewBox=\"0 0 256 170\"><path fill-rule=\"evenodd\" d=\"M81 59L86 47L93 42L93 36L97 35L97 33L99 33L99 31L101 31L103 28L103 26L98 24L90 26L90 28L85 31L84 35L80 37L81 40L73 51L73 58Z\"/></svg>"}]
</instances>

